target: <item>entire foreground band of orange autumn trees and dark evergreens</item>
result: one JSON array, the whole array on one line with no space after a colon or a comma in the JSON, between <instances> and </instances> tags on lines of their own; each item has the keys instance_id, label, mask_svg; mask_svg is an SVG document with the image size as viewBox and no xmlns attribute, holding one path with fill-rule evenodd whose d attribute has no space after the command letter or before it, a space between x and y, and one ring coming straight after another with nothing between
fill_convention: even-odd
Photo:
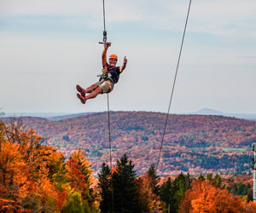
<instances>
[{"instance_id":1,"label":"entire foreground band of orange autumn trees and dark evergreens","mask_svg":"<svg viewBox=\"0 0 256 213\"><path fill-rule=\"evenodd\" d=\"M137 176L126 155L97 179L79 149L68 160L35 130L0 123L0 212L256 212L251 185L182 173L162 180L151 165ZM227 190L227 189L229 190Z\"/></svg>"}]
</instances>

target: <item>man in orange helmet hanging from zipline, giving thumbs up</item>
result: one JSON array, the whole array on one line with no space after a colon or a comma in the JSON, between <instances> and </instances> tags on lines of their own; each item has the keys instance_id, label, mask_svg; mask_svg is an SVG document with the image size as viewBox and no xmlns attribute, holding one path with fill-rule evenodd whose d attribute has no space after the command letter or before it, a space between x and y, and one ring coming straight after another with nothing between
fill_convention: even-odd
<instances>
[{"instance_id":1,"label":"man in orange helmet hanging from zipline, giving thumbs up","mask_svg":"<svg viewBox=\"0 0 256 213\"><path fill-rule=\"evenodd\" d=\"M113 90L113 85L118 83L119 75L125 70L127 59L124 58L122 66L116 66L118 57L117 55L110 55L107 62L107 51L111 43L106 43L102 52L102 66L103 71L101 78L98 82L92 84L87 89L83 89L79 85L76 86L79 93L77 94L79 100L85 104L88 99L95 98L98 94L110 93ZM90 95L86 95L90 93Z\"/></svg>"}]
</instances>

